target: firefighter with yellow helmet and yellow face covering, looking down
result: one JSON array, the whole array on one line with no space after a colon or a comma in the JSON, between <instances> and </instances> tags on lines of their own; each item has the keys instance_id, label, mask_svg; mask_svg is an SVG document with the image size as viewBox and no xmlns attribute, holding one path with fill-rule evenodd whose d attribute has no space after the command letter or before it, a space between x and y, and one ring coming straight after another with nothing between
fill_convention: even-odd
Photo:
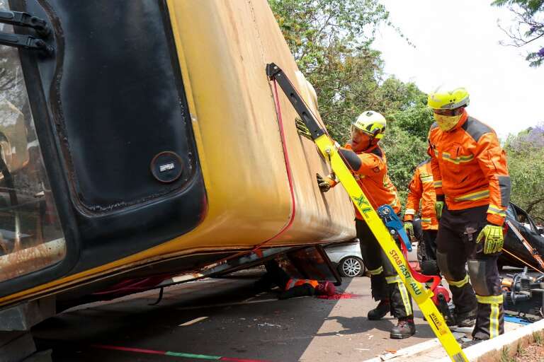
<instances>
[{"instance_id":1,"label":"firefighter with yellow helmet and yellow face covering, looking down","mask_svg":"<svg viewBox=\"0 0 544 362\"><path fill-rule=\"evenodd\" d=\"M458 325L475 323L472 337L477 341L504 333L497 259L510 177L497 134L467 114L468 103L465 88L429 93L436 122L429 131L428 153L439 219L438 267L450 285Z\"/></svg>"}]
</instances>

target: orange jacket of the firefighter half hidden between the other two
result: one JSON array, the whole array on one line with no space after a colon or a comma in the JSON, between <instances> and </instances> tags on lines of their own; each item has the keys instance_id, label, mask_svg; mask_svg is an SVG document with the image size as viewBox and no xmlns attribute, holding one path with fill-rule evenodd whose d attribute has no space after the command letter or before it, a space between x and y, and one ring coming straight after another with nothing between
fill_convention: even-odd
<instances>
[{"instance_id":1,"label":"orange jacket of the firefighter half hidden between the other two","mask_svg":"<svg viewBox=\"0 0 544 362\"><path fill-rule=\"evenodd\" d=\"M409 185L409 193L406 201L404 221L414 220L414 215L419 211L421 200L421 228L423 230L438 230L438 220L434 212L436 194L433 184L433 170L431 160L424 160L417 165L414 177Z\"/></svg>"}]
</instances>

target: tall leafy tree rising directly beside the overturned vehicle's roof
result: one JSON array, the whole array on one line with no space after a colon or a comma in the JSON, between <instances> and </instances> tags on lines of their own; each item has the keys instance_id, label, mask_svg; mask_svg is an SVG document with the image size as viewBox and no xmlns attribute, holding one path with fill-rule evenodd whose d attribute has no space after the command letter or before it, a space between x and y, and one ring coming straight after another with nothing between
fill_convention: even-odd
<instances>
[{"instance_id":1,"label":"tall leafy tree rising directly beside the overturned vehicle's roof","mask_svg":"<svg viewBox=\"0 0 544 362\"><path fill-rule=\"evenodd\" d=\"M379 103L382 60L370 44L378 25L392 26L389 13L378 0L268 2L299 69L317 92L327 129L346 141L353 117Z\"/></svg>"}]
</instances>

